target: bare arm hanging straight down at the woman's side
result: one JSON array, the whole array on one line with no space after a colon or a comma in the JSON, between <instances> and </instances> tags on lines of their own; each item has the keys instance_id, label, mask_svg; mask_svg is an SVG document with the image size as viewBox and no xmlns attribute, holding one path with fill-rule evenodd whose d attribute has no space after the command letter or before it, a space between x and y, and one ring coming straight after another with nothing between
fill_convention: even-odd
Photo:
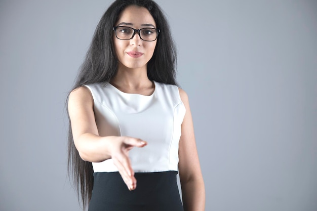
<instances>
[{"instance_id":1,"label":"bare arm hanging straight down at the woman's side","mask_svg":"<svg viewBox=\"0 0 317 211\"><path fill-rule=\"evenodd\" d=\"M205 185L197 154L193 122L187 94L180 91L186 114L179 142L179 176L182 187L184 211L205 210Z\"/></svg>"}]
</instances>

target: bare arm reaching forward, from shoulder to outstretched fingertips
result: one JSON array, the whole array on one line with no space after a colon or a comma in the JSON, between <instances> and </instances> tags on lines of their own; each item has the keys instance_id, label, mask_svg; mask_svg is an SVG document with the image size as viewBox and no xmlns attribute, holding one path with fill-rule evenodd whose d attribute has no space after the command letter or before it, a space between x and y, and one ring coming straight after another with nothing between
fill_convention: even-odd
<instances>
[{"instance_id":1,"label":"bare arm reaching forward, from shoulder to outstretched fingertips","mask_svg":"<svg viewBox=\"0 0 317 211\"><path fill-rule=\"evenodd\" d=\"M68 112L75 147L86 161L101 162L112 158L128 188L134 190L136 179L128 153L135 146L145 146L146 142L132 137L99 136L93 107L94 101L87 88L80 87L70 93Z\"/></svg>"}]
</instances>

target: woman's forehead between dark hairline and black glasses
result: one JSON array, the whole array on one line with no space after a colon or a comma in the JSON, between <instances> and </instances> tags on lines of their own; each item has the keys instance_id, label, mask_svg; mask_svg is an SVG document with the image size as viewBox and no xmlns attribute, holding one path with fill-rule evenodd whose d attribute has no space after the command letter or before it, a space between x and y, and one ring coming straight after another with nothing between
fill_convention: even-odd
<instances>
[{"instance_id":1,"label":"woman's forehead between dark hairline and black glasses","mask_svg":"<svg viewBox=\"0 0 317 211\"><path fill-rule=\"evenodd\" d=\"M131 23L133 26L142 24L152 24L155 26L155 21L150 12L144 7L128 6L119 15L116 25L119 23Z\"/></svg>"}]
</instances>

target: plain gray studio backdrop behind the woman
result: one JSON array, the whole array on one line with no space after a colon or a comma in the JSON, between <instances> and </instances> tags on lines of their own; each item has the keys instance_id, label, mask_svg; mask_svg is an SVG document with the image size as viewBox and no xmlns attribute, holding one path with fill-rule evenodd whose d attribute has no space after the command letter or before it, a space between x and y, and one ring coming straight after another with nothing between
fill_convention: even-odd
<instances>
[{"instance_id":1,"label":"plain gray studio backdrop behind the woman","mask_svg":"<svg viewBox=\"0 0 317 211\"><path fill-rule=\"evenodd\" d=\"M317 210L317 2L157 0L206 210ZM0 2L0 210L80 210L64 109L109 1Z\"/></svg>"}]
</instances>

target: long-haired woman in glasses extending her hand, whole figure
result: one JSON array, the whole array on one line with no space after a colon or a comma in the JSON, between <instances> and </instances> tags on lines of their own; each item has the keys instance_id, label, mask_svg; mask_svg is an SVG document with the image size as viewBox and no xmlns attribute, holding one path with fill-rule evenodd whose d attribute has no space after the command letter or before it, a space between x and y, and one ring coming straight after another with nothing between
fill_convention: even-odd
<instances>
[{"instance_id":1,"label":"long-haired woman in glasses extending her hand, whole figure","mask_svg":"<svg viewBox=\"0 0 317 211\"><path fill-rule=\"evenodd\" d=\"M84 208L205 209L175 61L169 26L153 1L116 0L101 18L68 97L68 166Z\"/></svg>"}]
</instances>

